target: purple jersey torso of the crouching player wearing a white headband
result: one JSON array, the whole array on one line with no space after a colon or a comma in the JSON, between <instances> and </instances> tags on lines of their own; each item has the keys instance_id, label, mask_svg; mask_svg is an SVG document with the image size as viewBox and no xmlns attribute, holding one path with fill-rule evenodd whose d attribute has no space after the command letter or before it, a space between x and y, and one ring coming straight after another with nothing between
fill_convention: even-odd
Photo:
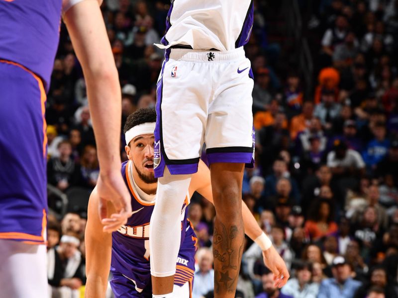
<instances>
[{"instance_id":1,"label":"purple jersey torso of the crouching player wearing a white headband","mask_svg":"<svg viewBox=\"0 0 398 298\"><path fill-rule=\"evenodd\" d=\"M131 161L122 164L122 175L131 195L132 216L128 219L127 224L112 233L111 270L134 280L136 286L139 289L143 289L150 280L149 222L155 202L143 201L140 198L134 186L131 167ZM189 204L188 198L187 196L181 213L182 247L184 247L187 235L189 236L188 238L192 237L192 235L195 236L187 220L186 207ZM153 197L153 199L155 198Z\"/></svg>"}]
</instances>

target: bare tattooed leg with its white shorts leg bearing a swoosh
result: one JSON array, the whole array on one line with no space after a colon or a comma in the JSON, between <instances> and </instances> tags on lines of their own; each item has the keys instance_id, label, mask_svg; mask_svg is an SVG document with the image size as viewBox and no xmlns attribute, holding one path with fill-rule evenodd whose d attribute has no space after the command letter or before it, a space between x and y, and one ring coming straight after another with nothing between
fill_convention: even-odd
<instances>
[{"instance_id":1,"label":"bare tattooed leg with its white shorts leg bearing a swoosh","mask_svg":"<svg viewBox=\"0 0 398 298\"><path fill-rule=\"evenodd\" d=\"M237 55L242 55L236 59ZM235 295L243 250L241 214L242 179L245 163L253 159L253 80L250 62L243 50L233 61L218 68L219 85L209 109L205 143L210 163L216 218L214 222L214 297Z\"/></svg>"}]
</instances>

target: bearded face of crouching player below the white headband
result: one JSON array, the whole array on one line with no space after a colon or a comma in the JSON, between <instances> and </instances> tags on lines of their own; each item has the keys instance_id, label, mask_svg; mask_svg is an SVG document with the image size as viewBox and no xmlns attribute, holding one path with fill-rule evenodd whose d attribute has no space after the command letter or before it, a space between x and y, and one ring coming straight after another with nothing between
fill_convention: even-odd
<instances>
[{"instance_id":1,"label":"bearded face of crouching player below the white headband","mask_svg":"<svg viewBox=\"0 0 398 298\"><path fill-rule=\"evenodd\" d=\"M153 170L153 146L155 137L153 134L140 135L126 146L128 159L132 160L138 176L145 183L156 183Z\"/></svg>"}]
</instances>

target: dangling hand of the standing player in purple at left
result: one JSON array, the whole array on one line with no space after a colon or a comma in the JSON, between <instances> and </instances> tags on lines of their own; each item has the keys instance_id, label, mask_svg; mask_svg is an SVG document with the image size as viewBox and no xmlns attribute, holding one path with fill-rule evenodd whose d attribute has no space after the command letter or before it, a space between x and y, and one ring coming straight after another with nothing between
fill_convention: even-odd
<instances>
[{"instance_id":1,"label":"dangling hand of the standing player in purple at left","mask_svg":"<svg viewBox=\"0 0 398 298\"><path fill-rule=\"evenodd\" d=\"M97 192L100 197L99 214L104 232L116 231L122 224L127 223L131 216L131 197L123 181L120 169L108 174L100 173L97 183ZM107 218L107 201L113 204L115 213Z\"/></svg>"}]
</instances>

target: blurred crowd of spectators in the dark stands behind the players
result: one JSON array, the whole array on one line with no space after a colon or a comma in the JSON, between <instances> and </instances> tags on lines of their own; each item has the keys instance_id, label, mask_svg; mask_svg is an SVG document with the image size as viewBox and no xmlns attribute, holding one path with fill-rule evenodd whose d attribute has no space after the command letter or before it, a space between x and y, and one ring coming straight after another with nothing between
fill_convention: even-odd
<instances>
[{"instance_id":1,"label":"blurred crowd of spectators in the dark stands behind the players","mask_svg":"<svg viewBox=\"0 0 398 298\"><path fill-rule=\"evenodd\" d=\"M310 11L303 12L316 76L309 92L297 66L280 71L283 43L267 41L266 11L278 5L271 2L254 1L245 46L255 81L256 165L245 171L243 200L291 279L274 288L261 249L247 238L236 297L398 298L398 0L298 0ZM164 34L169 8L169 0L104 0L101 6L123 124L136 109L156 103L163 53L153 43ZM99 165L82 70L63 24L46 121L49 187L72 204L76 190L87 197L94 188ZM124 145L121 136L126 160ZM76 292L85 283L87 201L68 206L73 212L65 215L53 194L49 285L54 293L60 287ZM194 298L213 297L214 215L195 194L189 207L200 247Z\"/></svg>"}]
</instances>

